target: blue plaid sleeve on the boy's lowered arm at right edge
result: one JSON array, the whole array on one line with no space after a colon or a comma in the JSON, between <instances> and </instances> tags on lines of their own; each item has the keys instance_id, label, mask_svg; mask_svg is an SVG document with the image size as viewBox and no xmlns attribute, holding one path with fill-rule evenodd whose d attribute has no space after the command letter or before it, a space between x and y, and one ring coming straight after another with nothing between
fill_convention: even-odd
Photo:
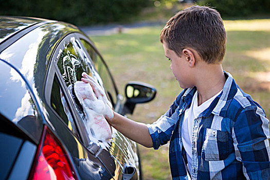
<instances>
[{"instance_id":1,"label":"blue plaid sleeve on the boy's lowered arm at right edge","mask_svg":"<svg viewBox=\"0 0 270 180\"><path fill-rule=\"evenodd\" d=\"M270 177L269 120L259 106L245 107L232 129L236 159L247 179Z\"/></svg>"}]
</instances>

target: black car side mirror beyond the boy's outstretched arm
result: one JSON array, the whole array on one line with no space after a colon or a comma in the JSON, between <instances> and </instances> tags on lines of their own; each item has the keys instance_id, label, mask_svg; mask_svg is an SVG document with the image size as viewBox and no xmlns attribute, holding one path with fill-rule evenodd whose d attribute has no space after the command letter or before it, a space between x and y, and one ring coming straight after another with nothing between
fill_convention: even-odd
<instances>
[{"instance_id":1,"label":"black car side mirror beyond the boy's outstretched arm","mask_svg":"<svg viewBox=\"0 0 270 180\"><path fill-rule=\"evenodd\" d=\"M156 96L156 88L150 84L132 81L125 86L125 97L127 101L124 104L122 114L132 114L135 105L152 101Z\"/></svg>"}]
</instances>

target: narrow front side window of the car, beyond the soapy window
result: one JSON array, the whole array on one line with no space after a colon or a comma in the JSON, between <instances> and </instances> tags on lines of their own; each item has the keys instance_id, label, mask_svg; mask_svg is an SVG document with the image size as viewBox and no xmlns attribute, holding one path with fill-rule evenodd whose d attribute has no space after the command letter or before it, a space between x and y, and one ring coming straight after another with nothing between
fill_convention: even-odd
<instances>
[{"instance_id":1,"label":"narrow front side window of the car, beyond the soapy window","mask_svg":"<svg viewBox=\"0 0 270 180\"><path fill-rule=\"evenodd\" d=\"M95 67L98 71L99 76L103 81L103 86L106 89L107 95L114 105L117 100L117 93L115 91L115 86L113 80L110 76L109 69L107 69L106 64L102 61L101 57L95 51L95 49L84 39L80 39L86 51L88 52L89 57L91 57Z\"/></svg>"}]
</instances>

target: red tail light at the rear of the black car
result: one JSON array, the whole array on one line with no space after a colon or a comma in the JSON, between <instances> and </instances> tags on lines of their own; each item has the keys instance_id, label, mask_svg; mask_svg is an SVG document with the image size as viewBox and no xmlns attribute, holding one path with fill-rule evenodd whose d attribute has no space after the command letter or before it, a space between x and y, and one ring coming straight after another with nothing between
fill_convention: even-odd
<instances>
[{"instance_id":1,"label":"red tail light at the rear of the black car","mask_svg":"<svg viewBox=\"0 0 270 180\"><path fill-rule=\"evenodd\" d=\"M46 126L34 167L33 179L77 179L67 153Z\"/></svg>"}]
</instances>

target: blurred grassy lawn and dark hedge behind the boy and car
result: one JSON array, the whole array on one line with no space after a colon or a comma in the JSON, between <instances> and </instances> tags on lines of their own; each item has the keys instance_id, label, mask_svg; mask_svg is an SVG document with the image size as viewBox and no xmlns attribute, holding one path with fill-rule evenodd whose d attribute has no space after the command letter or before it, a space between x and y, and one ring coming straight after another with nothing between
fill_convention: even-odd
<instances>
[{"instance_id":1,"label":"blurred grassy lawn and dark hedge behind the boy and car","mask_svg":"<svg viewBox=\"0 0 270 180\"><path fill-rule=\"evenodd\" d=\"M121 94L128 81L157 88L157 97L137 105L130 118L152 123L182 91L164 56L159 33L179 10L197 5L217 9L227 31L224 70L270 117L269 0L0 0L1 15L34 16L79 26L96 43ZM0 22L1 26L1 22ZM99 29L99 33L95 30ZM117 30L108 31L108 27ZM111 28L112 29L112 28ZM106 33L105 33L106 32ZM107 33L109 32L109 33ZM139 146L144 179L171 179L168 145L159 150Z\"/></svg>"}]
</instances>

